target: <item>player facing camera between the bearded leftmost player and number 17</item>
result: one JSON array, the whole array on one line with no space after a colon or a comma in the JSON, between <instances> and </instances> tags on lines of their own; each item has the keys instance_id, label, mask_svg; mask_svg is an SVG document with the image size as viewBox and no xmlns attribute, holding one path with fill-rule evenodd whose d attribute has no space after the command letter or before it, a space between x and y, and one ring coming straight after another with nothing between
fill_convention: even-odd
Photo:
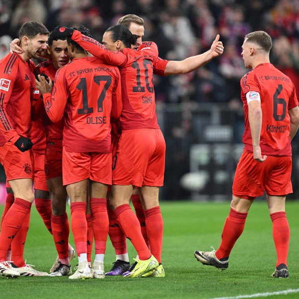
<instances>
[{"instance_id":1,"label":"player facing camera between the bearded leftmost player and number 17","mask_svg":"<svg viewBox=\"0 0 299 299\"><path fill-rule=\"evenodd\" d=\"M56 71L69 63L70 56L67 51L66 39L53 40L50 33L48 38L47 53L50 59L40 63L36 67L35 74L45 74L54 80ZM62 276L71 274L70 260L75 257L74 249L68 243L69 222L66 213L67 192L62 184L62 138L64 119L57 123L49 120L43 109L42 122L46 135L46 150L44 158L44 172L46 183L50 191L50 206L45 201L40 206L44 208L44 216L50 222L54 243L58 257L50 269L50 276ZM36 199L35 199L36 201ZM41 200L40 200L41 201Z\"/></svg>"}]
</instances>

